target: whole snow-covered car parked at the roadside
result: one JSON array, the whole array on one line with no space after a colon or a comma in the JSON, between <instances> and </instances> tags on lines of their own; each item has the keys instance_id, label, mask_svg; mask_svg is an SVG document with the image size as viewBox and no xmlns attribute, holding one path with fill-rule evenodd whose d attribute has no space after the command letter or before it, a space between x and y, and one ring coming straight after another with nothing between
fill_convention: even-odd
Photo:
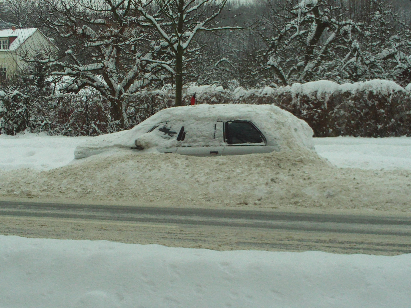
<instances>
[{"instance_id":1,"label":"whole snow-covered car parked at the roadside","mask_svg":"<svg viewBox=\"0 0 411 308\"><path fill-rule=\"evenodd\" d=\"M128 131L96 137L75 157L115 147L195 156L313 149L312 135L306 122L274 105L200 104L167 108Z\"/></svg>"}]
</instances>

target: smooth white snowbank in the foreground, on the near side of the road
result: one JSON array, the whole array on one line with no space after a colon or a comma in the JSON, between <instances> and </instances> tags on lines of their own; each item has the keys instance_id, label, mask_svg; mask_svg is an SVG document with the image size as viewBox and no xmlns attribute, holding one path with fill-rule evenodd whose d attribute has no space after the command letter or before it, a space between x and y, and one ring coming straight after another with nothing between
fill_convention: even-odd
<instances>
[{"instance_id":1,"label":"smooth white snowbank in the foreground, on the near side of the road","mask_svg":"<svg viewBox=\"0 0 411 308\"><path fill-rule=\"evenodd\" d=\"M1 307L409 307L411 255L0 235Z\"/></svg>"}]
</instances>

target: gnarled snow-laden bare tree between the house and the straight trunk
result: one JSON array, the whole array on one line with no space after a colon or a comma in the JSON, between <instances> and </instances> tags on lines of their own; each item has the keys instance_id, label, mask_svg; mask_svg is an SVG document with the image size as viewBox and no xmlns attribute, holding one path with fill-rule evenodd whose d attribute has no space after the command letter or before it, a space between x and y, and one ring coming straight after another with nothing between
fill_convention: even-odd
<instances>
[{"instance_id":1,"label":"gnarled snow-laden bare tree between the house and the straight trunk","mask_svg":"<svg viewBox=\"0 0 411 308\"><path fill-rule=\"evenodd\" d=\"M97 90L111 105L120 129L128 126L127 98L161 82L164 64L154 61L148 30L136 23L132 0L43 0L50 12L45 27L59 38L60 57L44 63L59 78L60 93Z\"/></svg>"}]
</instances>

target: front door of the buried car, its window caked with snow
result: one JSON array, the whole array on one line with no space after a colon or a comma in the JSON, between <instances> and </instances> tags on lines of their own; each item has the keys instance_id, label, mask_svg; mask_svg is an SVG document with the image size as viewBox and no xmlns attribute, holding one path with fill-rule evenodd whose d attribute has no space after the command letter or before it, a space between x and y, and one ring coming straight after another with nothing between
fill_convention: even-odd
<instances>
[{"instance_id":1,"label":"front door of the buried car, its window caked with snow","mask_svg":"<svg viewBox=\"0 0 411 308\"><path fill-rule=\"evenodd\" d=\"M177 140L177 154L221 155L224 149L223 122L186 123L181 127Z\"/></svg>"}]
</instances>

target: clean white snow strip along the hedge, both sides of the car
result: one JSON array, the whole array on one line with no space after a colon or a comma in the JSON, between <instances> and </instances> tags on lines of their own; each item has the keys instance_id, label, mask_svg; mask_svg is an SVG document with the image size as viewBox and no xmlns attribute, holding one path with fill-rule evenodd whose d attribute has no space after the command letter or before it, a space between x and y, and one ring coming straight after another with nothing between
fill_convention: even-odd
<instances>
[{"instance_id":1,"label":"clean white snow strip along the hedge, both sides of the car","mask_svg":"<svg viewBox=\"0 0 411 308\"><path fill-rule=\"evenodd\" d=\"M0 169L49 170L67 165L74 149L93 137L0 135ZM411 138L314 138L316 151L341 168L411 170Z\"/></svg>"}]
</instances>

